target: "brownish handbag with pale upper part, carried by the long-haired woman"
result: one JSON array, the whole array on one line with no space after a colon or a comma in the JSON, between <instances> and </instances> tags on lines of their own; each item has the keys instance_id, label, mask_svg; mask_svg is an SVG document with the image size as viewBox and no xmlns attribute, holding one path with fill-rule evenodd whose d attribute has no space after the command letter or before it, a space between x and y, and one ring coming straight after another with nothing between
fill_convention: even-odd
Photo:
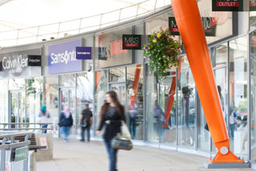
<instances>
[{"instance_id":1,"label":"brownish handbag with pale upper part, carried by the long-haired woman","mask_svg":"<svg viewBox=\"0 0 256 171\"><path fill-rule=\"evenodd\" d=\"M122 121L121 131L122 133L118 133L111 140L111 147L115 149L131 150L132 149L131 134L128 131L128 127L126 126L124 121Z\"/></svg>"}]
</instances>

